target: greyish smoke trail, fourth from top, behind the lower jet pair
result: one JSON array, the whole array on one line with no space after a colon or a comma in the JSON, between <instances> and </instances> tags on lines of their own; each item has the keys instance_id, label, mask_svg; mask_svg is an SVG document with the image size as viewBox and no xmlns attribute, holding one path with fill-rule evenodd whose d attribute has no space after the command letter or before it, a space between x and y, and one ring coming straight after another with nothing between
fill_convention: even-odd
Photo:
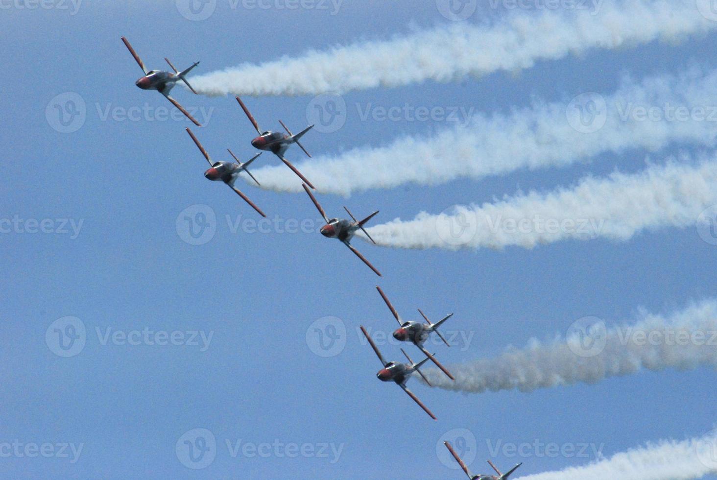
<instances>
[{"instance_id":1,"label":"greyish smoke trail, fourth from top, behind the lower jet pair","mask_svg":"<svg viewBox=\"0 0 717 480\"><path fill-rule=\"evenodd\" d=\"M586 317L565 339L543 344L533 339L523 349L498 357L448 366L455 382L440 370L426 369L433 387L460 392L540 388L596 383L642 369L692 370L717 367L717 300L708 299L665 317L642 312L632 325L608 328ZM607 477L616 478L616 477ZM629 478L622 476L621 478Z\"/></svg>"}]
</instances>

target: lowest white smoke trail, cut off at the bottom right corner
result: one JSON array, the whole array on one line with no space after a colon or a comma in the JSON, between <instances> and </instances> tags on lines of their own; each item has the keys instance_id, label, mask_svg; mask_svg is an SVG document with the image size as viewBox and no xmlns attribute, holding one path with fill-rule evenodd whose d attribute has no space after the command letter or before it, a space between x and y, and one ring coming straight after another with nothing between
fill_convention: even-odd
<instances>
[{"instance_id":1,"label":"lowest white smoke trail, cut off at the bottom right corner","mask_svg":"<svg viewBox=\"0 0 717 480\"><path fill-rule=\"evenodd\" d=\"M691 480L717 472L717 437L647 443L608 459L517 480Z\"/></svg>"}]
</instances>

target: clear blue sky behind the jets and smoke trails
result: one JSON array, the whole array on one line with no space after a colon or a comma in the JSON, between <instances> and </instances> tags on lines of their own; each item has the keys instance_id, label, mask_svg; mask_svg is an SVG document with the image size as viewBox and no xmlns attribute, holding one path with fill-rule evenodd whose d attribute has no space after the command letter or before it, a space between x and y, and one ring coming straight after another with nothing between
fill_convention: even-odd
<instances>
[{"instance_id":1,"label":"clear blue sky behind the jets and smoke trails","mask_svg":"<svg viewBox=\"0 0 717 480\"><path fill-rule=\"evenodd\" d=\"M473 471L485 471L490 458L505 469L523 461L520 473L532 474L593 458L545 456L535 449L518 458L500 450L493 455L491 447L537 439L602 445L609 456L646 441L699 436L713 427L714 372L706 368L640 372L528 394L462 395L411 380L409 387L437 415L433 422L398 387L376 380L379 363L358 331L361 324L394 327L376 284L406 317L414 318L417 307L432 319L455 313L447 329L473 337L467 346L437 347L446 364L492 357L533 337L551 339L583 316L629 320L638 307L669 313L713 296L717 287L715 247L695 228L646 232L627 243L570 241L500 252L389 250L356 243L384 273L379 279L318 233L275 227L252 232L242 224L257 220L255 212L202 177L206 164L184 132L191 123L153 117L154 108L168 103L133 85L140 72L120 42L128 37L149 68L163 67L166 56L181 68L201 60L197 70L209 72L444 24L433 2L416 9L407 1L346 1L331 14L331 7L231 9L219 1L217 11L198 22L182 17L174 1L121 3L85 1L74 15L71 4L0 11L5 126L0 216L49 219L47 233L14 229L0 235L10 272L0 288L5 326L0 442L82 444L74 463L69 449L69 458L1 458L2 476L459 479L460 471L447 468L437 455L437 444L444 455L440 438L455 428L476 438ZM478 14L506 12L481 7ZM346 125L333 133L310 132L303 143L310 152L330 154L444 127L362 121L355 105L467 105L506 112L533 98L610 93L625 72L676 73L693 62L713 68L715 40L711 34L676 45L538 62L516 75L347 93ZM46 108L68 92L85 102L86 118L77 131L61 133L48 121ZM250 158L253 130L232 98L194 97L181 88L174 96L186 107L211 113L206 126L194 131L214 159L226 159L227 148ZM298 130L307 123L310 100L247 98L247 104L262 126L278 128L280 118ZM150 113L139 121L103 116L133 107ZM488 202L518 189L553 189L589 173L640 171L645 155L604 154L569 168L320 201L329 215L344 204L359 217L379 209L376 222L383 222ZM292 149L288 157L299 160L300 151ZM277 159L265 154L261 162ZM304 194L239 187L270 218L318 217ZM214 213L216 231L207 243L190 245L176 223L197 204ZM237 221L243 225L238 230L232 227ZM84 348L72 357L60 357L46 342L53 322L65 316L80 319L86 331ZM312 325L327 316L345 326L345 346L321 357L313 351ZM182 344L105 340L108 332L143 330L179 332ZM193 332L199 332L199 344L184 344ZM212 335L206 349L201 333ZM394 344L381 349L386 357L401 355ZM419 356L415 349L409 353ZM187 468L176 453L177 443L196 428L212 432L217 443L215 458L204 469ZM227 441L232 448L237 441L249 443L248 453L235 455ZM289 443L304 454L289 458ZM266 444L272 444L267 456L252 456L252 445ZM341 453L335 456L331 446Z\"/></svg>"}]
</instances>

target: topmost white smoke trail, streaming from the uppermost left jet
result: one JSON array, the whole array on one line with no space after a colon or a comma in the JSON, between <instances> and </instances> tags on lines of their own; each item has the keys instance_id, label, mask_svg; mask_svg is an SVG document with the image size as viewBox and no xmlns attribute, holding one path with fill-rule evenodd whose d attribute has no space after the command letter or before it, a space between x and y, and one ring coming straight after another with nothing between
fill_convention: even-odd
<instances>
[{"instance_id":1,"label":"topmost white smoke trail, streaming from the uppermost left jet","mask_svg":"<svg viewBox=\"0 0 717 480\"><path fill-rule=\"evenodd\" d=\"M509 15L480 25L461 22L387 41L310 51L192 78L204 95L316 95L425 80L450 82L515 71L592 48L616 48L708 32L715 22L681 1L605 2L599 11Z\"/></svg>"}]
</instances>

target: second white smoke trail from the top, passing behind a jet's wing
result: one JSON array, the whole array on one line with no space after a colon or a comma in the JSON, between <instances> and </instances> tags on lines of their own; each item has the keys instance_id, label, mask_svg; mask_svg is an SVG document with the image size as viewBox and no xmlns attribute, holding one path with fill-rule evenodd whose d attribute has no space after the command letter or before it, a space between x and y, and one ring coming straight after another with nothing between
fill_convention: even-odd
<instances>
[{"instance_id":1,"label":"second white smoke trail from the top, passing behind a jet's wing","mask_svg":"<svg viewBox=\"0 0 717 480\"><path fill-rule=\"evenodd\" d=\"M409 182L435 185L460 177L481 179L518 169L566 166L604 152L656 151L671 142L713 147L717 144L715 91L717 70L704 75L693 68L680 77L650 77L641 83L626 78L613 95L586 98L604 102L604 118L592 118L596 124L604 121L604 126L592 133L580 130L577 118L569 121L565 103L536 103L509 115L474 116L467 125L435 136L404 136L387 146L315 157L298 169L319 192L346 196ZM265 166L255 174L262 188L301 190L295 175L283 165Z\"/></svg>"}]
</instances>

